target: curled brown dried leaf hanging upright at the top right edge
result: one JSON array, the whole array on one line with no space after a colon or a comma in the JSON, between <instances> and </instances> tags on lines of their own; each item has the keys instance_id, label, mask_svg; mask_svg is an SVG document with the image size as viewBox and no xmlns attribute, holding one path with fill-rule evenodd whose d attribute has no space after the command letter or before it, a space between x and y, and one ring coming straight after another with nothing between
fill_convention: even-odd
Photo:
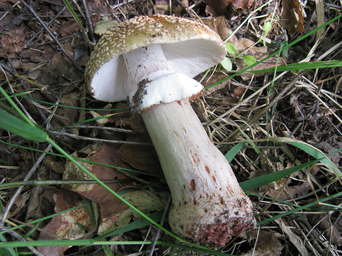
<instances>
[{"instance_id":1,"label":"curled brown dried leaf hanging upright at the top right edge","mask_svg":"<svg viewBox=\"0 0 342 256\"><path fill-rule=\"evenodd\" d=\"M283 0L280 22L292 37L295 32L304 32L304 12L298 0Z\"/></svg>"}]
</instances>

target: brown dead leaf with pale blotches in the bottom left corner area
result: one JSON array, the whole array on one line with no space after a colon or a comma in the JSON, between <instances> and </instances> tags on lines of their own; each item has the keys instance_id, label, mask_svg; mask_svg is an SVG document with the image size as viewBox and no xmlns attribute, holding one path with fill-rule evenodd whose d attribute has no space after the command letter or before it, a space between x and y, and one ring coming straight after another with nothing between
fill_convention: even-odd
<instances>
[{"instance_id":1,"label":"brown dead leaf with pale blotches in the bottom left corner area","mask_svg":"<svg viewBox=\"0 0 342 256\"><path fill-rule=\"evenodd\" d=\"M60 194L54 196L54 199L56 202L56 212L61 212L83 204L82 197L79 194L66 189L62 189ZM81 238L84 236L85 230L81 229L77 222L86 227L92 225L85 207L80 207L52 217L51 222L43 228L45 232L40 232L38 240L57 240L58 238L52 234L72 240ZM70 247L38 246L37 250L44 255L58 256Z\"/></svg>"}]
</instances>

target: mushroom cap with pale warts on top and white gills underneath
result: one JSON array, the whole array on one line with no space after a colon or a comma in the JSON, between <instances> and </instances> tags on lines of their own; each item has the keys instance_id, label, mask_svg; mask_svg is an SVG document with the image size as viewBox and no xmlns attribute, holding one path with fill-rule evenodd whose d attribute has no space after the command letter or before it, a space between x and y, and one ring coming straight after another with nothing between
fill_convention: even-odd
<instances>
[{"instance_id":1,"label":"mushroom cap with pale warts on top and white gills underneath","mask_svg":"<svg viewBox=\"0 0 342 256\"><path fill-rule=\"evenodd\" d=\"M126 100L136 85L122 54L149 44L161 44L170 68L191 78L226 55L219 35L201 23L160 14L134 17L109 28L91 53L85 76L92 96Z\"/></svg>"}]
</instances>

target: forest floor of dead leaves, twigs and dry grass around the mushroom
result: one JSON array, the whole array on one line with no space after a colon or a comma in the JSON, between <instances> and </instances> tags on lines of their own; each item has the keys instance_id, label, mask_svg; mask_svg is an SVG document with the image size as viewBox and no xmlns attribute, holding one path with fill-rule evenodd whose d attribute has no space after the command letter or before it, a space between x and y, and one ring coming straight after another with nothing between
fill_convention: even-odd
<instances>
[{"instance_id":1,"label":"forest floor of dead leaves, twigs and dry grass around the mushroom","mask_svg":"<svg viewBox=\"0 0 342 256\"><path fill-rule=\"evenodd\" d=\"M144 241L154 240L150 255L342 255L342 68L329 66L342 59L341 18L311 33L341 14L341 1L66 2L0 2L1 87L84 168L158 223L165 219L169 233L156 238L159 227L15 123L20 115L1 93L13 130L0 129L0 240L9 243L0 243L0 255L143 255L150 254ZM192 106L223 154L237 145L229 162L241 187L248 184L258 226L211 252L170 236L163 216L170 193L141 115L131 117L127 100L95 100L84 82L109 27L156 13L201 22L232 47L226 64L194 77L205 91ZM264 71L238 73L279 49L250 69ZM274 72L277 63L311 61L325 63ZM331 153L291 175L268 175ZM257 177L264 180L246 183ZM53 246L57 240L63 246Z\"/></svg>"}]
</instances>

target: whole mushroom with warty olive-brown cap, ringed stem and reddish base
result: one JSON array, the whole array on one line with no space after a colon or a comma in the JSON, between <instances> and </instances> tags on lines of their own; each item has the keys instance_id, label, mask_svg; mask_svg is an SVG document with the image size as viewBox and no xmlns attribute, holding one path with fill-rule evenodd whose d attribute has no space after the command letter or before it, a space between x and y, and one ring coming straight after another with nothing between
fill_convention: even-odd
<instances>
[{"instance_id":1,"label":"whole mushroom with warty olive-brown cap, ringed stem and reddish base","mask_svg":"<svg viewBox=\"0 0 342 256\"><path fill-rule=\"evenodd\" d=\"M256 225L250 199L189 103L203 91L192 77L225 54L225 44L207 26L156 14L109 28L86 68L94 98L113 102L130 95L139 101L171 191L169 224L211 247Z\"/></svg>"}]
</instances>

